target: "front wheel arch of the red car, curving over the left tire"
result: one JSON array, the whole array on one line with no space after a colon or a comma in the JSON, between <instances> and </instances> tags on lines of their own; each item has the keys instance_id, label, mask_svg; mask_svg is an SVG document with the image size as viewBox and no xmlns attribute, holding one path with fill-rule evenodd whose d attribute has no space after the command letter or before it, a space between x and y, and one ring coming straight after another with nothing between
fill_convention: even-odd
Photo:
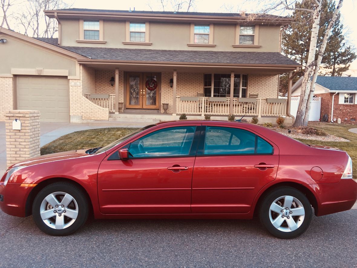
<instances>
[{"instance_id":1,"label":"front wheel arch of the red car, curving over the left tire","mask_svg":"<svg viewBox=\"0 0 357 268\"><path fill-rule=\"evenodd\" d=\"M93 203L92 203L92 199L90 198L87 190L78 182L71 180L71 179L67 179L67 178L50 178L50 179L46 179L46 180L42 180L42 182L40 182L39 184L37 184L34 189L31 190L29 196L26 199L26 204L25 204L25 217L28 217L32 214L32 204L34 203L35 197L36 195L43 189L45 188L47 185L50 185L52 183L56 183L56 182L66 182L66 183L70 183L76 187L78 187L80 190L82 190L82 192L85 194L86 198L88 199L88 202L90 204L89 208L90 208L90 212L93 215L94 214L94 207L93 207Z\"/></svg>"}]
</instances>

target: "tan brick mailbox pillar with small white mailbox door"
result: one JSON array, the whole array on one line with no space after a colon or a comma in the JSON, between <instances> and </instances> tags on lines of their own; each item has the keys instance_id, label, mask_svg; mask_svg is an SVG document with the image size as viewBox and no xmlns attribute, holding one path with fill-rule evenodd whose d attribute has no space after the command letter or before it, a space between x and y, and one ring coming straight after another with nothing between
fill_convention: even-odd
<instances>
[{"instance_id":1,"label":"tan brick mailbox pillar with small white mailbox door","mask_svg":"<svg viewBox=\"0 0 357 268\"><path fill-rule=\"evenodd\" d=\"M5 114L5 125L8 167L40 155L40 111L10 110Z\"/></svg>"}]
</instances>

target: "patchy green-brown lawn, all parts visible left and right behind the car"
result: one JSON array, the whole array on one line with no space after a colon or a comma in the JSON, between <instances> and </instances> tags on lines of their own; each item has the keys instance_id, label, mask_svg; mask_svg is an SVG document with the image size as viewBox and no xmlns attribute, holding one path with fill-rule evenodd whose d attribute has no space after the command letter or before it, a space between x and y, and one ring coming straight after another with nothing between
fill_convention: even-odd
<instances>
[{"instance_id":1,"label":"patchy green-brown lawn, all parts visible left and right behind the car","mask_svg":"<svg viewBox=\"0 0 357 268\"><path fill-rule=\"evenodd\" d=\"M324 145L345 150L354 163L353 173L357 175L357 134L351 133L348 129L353 125L332 124L332 123L309 123L310 126L322 129L328 134L336 135L350 140L350 142L325 142L318 140L299 139L303 143L311 145ZM64 135L41 148L41 155L70 150L101 147L135 131L137 128L101 128L76 131Z\"/></svg>"}]
</instances>

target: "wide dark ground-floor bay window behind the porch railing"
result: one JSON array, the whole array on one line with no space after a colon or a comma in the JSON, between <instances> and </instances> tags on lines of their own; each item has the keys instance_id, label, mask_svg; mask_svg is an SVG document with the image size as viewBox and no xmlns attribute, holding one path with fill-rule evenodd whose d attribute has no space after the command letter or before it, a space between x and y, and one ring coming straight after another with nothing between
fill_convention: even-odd
<instances>
[{"instance_id":1,"label":"wide dark ground-floor bay window behind the porch railing","mask_svg":"<svg viewBox=\"0 0 357 268\"><path fill-rule=\"evenodd\" d=\"M234 98L247 97L248 75L234 75ZM212 74L205 74L203 80L203 90L205 97L230 97L231 94L231 75L213 74L213 92L212 92Z\"/></svg>"}]
</instances>

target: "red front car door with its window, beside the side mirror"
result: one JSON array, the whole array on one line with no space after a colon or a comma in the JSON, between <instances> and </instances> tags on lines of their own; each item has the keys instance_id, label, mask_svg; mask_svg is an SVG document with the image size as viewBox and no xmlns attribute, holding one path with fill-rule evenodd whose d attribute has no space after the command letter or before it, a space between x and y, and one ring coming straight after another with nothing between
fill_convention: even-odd
<instances>
[{"instance_id":1,"label":"red front car door with its window, beside the side mirror","mask_svg":"<svg viewBox=\"0 0 357 268\"><path fill-rule=\"evenodd\" d=\"M98 196L104 214L191 213L193 164L199 139L196 125L156 129L117 151L98 170ZM121 148L120 148L121 149Z\"/></svg>"}]
</instances>

